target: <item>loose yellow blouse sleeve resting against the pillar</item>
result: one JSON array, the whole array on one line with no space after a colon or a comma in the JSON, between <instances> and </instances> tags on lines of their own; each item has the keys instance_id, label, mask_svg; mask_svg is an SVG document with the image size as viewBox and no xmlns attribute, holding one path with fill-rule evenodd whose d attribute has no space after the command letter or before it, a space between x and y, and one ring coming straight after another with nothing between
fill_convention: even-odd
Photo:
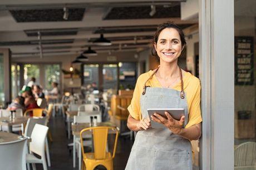
<instances>
[{"instance_id":1,"label":"loose yellow blouse sleeve resting against the pillar","mask_svg":"<svg viewBox=\"0 0 256 170\"><path fill-rule=\"evenodd\" d=\"M201 108L200 108L200 92L201 92L201 85L200 80L196 81L195 86L195 94L193 96L193 99L191 100L191 106L189 110L189 121L185 128L191 127L193 125L196 125L202 121L201 117Z\"/></svg>"}]
</instances>

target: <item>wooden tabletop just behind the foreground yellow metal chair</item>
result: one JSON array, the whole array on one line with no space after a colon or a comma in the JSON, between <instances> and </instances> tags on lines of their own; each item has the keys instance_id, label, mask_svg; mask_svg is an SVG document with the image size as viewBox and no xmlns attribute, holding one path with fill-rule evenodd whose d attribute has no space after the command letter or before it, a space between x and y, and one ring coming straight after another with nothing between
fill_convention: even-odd
<instances>
[{"instance_id":1,"label":"wooden tabletop just behind the foreground yellow metal chair","mask_svg":"<svg viewBox=\"0 0 256 170\"><path fill-rule=\"evenodd\" d=\"M110 126L110 127L116 127L116 125L112 122L100 122L97 123L97 126ZM72 133L75 136L80 135L80 131L83 130L84 128L90 127L90 123L77 123L77 124L72 124ZM86 133L86 132L85 132ZM115 131L109 131L109 133L115 133Z\"/></svg>"}]
</instances>

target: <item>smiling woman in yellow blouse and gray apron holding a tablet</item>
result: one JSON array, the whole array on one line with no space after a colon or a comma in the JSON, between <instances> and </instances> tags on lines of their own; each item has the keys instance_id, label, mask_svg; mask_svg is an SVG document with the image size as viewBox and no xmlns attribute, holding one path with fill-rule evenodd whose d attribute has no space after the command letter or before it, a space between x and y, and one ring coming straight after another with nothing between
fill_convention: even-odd
<instances>
[{"instance_id":1,"label":"smiling woman in yellow blouse and gray apron holding a tablet","mask_svg":"<svg viewBox=\"0 0 256 170\"><path fill-rule=\"evenodd\" d=\"M160 66L137 79L127 126L137 131L126 169L192 169L191 140L201 135L200 81L181 70L178 58L186 45L184 33L174 23L157 28L154 54ZM184 108L175 120L154 114L151 119L166 128L151 128L147 109ZM183 128L183 126L185 128Z\"/></svg>"}]
</instances>

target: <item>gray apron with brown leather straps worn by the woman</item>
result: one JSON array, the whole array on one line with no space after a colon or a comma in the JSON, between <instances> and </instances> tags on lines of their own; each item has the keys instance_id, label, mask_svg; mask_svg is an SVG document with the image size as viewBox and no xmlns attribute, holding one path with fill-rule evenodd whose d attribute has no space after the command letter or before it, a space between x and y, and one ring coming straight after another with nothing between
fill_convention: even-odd
<instances>
[{"instance_id":1,"label":"gray apron with brown leather straps worn by the woman","mask_svg":"<svg viewBox=\"0 0 256 170\"><path fill-rule=\"evenodd\" d=\"M150 76L156 73L158 69ZM148 79L148 80L149 80ZM148 117L147 109L184 108L185 124L188 123L188 104L180 69L181 91L144 85L140 98L142 119ZM168 128L149 128L137 132L126 164L126 170L192 169L191 144Z\"/></svg>"}]
</instances>

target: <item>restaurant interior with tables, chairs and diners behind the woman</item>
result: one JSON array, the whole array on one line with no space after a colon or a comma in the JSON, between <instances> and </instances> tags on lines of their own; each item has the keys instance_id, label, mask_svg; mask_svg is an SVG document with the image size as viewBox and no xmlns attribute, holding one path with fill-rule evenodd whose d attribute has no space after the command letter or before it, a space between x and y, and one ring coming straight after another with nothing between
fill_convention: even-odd
<instances>
[{"instance_id":1,"label":"restaurant interior with tables, chairs and diners behind the woman","mask_svg":"<svg viewBox=\"0 0 256 170\"><path fill-rule=\"evenodd\" d=\"M0 169L85 169L90 158L86 169L125 169L127 107L138 76L159 65L159 24L183 29L179 66L199 76L194 2L0 1Z\"/></svg>"}]
</instances>

